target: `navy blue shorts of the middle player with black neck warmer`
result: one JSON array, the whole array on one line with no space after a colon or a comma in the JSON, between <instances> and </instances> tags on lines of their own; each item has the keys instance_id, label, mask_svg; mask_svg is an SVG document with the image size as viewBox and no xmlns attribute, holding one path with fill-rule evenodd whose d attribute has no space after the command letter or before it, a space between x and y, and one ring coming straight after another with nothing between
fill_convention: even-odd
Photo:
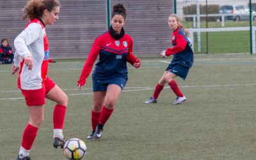
<instances>
[{"instance_id":1,"label":"navy blue shorts of the middle player with black neck warmer","mask_svg":"<svg viewBox=\"0 0 256 160\"><path fill-rule=\"evenodd\" d=\"M120 86L121 90L123 90L125 84L127 83L127 79L123 77L114 77L109 79L96 79L95 77L92 77L92 91L106 91L108 88L108 85L110 84L116 84Z\"/></svg>"}]
</instances>

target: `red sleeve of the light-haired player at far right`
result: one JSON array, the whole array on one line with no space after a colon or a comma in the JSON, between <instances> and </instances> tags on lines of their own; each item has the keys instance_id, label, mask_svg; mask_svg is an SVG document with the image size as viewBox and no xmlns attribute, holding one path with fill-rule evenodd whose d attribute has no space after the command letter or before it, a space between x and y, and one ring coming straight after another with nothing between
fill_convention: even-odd
<instances>
[{"instance_id":1,"label":"red sleeve of the light-haired player at far right","mask_svg":"<svg viewBox=\"0 0 256 160\"><path fill-rule=\"evenodd\" d=\"M184 36L177 34L175 38L177 44L174 47L168 48L165 51L166 56L170 56L177 52L182 52L186 48L187 41L185 40Z\"/></svg>"}]
</instances>

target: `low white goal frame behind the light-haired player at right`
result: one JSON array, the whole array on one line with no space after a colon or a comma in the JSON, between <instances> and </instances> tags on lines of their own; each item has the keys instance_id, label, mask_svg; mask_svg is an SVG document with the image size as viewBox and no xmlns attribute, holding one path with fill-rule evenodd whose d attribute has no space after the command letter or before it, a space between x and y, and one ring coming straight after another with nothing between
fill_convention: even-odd
<instances>
[{"instance_id":1,"label":"low white goal frame behind the light-haired player at right","mask_svg":"<svg viewBox=\"0 0 256 160\"><path fill-rule=\"evenodd\" d=\"M256 53L255 45L255 26L252 26L252 53ZM191 40L192 49L194 51L194 33L197 32L196 28L189 28L189 38ZM200 28L200 32L219 32L219 31L250 31L250 27L236 27L236 28ZM199 42L198 42L199 43ZM198 45L200 46L200 45Z\"/></svg>"}]
</instances>

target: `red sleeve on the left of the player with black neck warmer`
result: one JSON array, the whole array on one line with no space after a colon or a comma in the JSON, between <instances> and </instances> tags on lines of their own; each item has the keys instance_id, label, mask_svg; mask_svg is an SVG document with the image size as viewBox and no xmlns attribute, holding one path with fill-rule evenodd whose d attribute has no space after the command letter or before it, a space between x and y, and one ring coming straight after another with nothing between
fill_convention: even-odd
<instances>
[{"instance_id":1,"label":"red sleeve on the left of the player with black neck warmer","mask_svg":"<svg viewBox=\"0 0 256 160\"><path fill-rule=\"evenodd\" d=\"M77 81L78 84L85 84L86 78L89 76L90 72L92 71L93 63L96 61L101 47L101 40L100 38L96 38L93 42L92 49L88 55L86 62L84 63L83 70L81 72L81 76Z\"/></svg>"}]
</instances>

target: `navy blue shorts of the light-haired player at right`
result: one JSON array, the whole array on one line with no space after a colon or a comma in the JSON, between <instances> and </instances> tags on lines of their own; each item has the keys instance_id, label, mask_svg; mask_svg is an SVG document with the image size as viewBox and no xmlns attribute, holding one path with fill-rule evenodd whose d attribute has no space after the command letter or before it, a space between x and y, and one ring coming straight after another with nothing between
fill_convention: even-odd
<instances>
[{"instance_id":1,"label":"navy blue shorts of the light-haired player at right","mask_svg":"<svg viewBox=\"0 0 256 160\"><path fill-rule=\"evenodd\" d=\"M168 65L168 67L166 68L166 71L168 70L173 74L181 77L183 80L185 80L188 75L189 67L185 67L183 65L176 63L176 64Z\"/></svg>"}]
</instances>

